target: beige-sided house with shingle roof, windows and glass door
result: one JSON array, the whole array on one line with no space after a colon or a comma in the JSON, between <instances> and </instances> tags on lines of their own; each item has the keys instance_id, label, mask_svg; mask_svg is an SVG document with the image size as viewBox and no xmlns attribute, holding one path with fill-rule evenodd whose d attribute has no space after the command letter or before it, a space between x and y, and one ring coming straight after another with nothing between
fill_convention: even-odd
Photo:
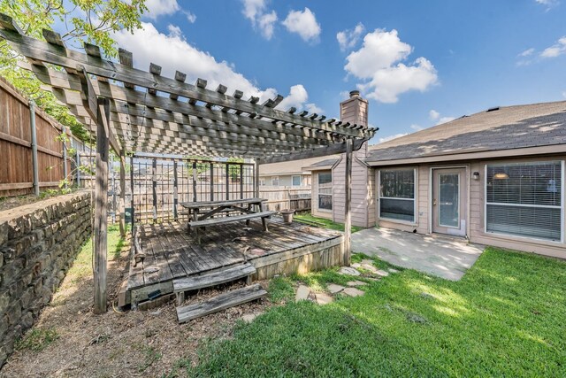
<instances>
[{"instance_id":1,"label":"beige-sided house with shingle roof, windows and glass door","mask_svg":"<svg viewBox=\"0 0 566 378\"><path fill-rule=\"evenodd\" d=\"M495 107L356 151L352 223L566 258L566 101ZM343 218L341 158L307 167L312 213Z\"/></svg>"}]
</instances>

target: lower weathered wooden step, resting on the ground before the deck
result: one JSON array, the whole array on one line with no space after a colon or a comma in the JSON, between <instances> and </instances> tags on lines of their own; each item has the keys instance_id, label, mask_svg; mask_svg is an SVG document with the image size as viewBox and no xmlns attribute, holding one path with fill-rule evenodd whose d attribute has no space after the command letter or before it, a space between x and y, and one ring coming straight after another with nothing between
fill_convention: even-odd
<instances>
[{"instance_id":1,"label":"lower weathered wooden step, resting on the ground before the deck","mask_svg":"<svg viewBox=\"0 0 566 378\"><path fill-rule=\"evenodd\" d=\"M180 324L185 323L189 320L210 315L210 313L226 310L227 308L236 305L251 302L261 297L265 297L266 295L267 291L265 291L261 285L256 283L255 285L228 291L217 297L211 297L210 299L198 304L177 307L177 319Z\"/></svg>"}]
</instances>

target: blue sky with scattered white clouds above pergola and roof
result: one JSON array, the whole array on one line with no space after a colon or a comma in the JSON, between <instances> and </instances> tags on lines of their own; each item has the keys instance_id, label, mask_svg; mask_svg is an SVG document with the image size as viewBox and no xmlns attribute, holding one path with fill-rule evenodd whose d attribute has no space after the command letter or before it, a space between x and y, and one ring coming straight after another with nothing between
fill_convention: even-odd
<instances>
[{"instance_id":1,"label":"blue sky with scattered white clouds above pergola and roof","mask_svg":"<svg viewBox=\"0 0 566 378\"><path fill-rule=\"evenodd\" d=\"M563 0L562 0L563 1ZM149 62L337 117L370 100L371 143L509 104L566 100L566 1L148 0L116 35Z\"/></svg>"}]
</instances>

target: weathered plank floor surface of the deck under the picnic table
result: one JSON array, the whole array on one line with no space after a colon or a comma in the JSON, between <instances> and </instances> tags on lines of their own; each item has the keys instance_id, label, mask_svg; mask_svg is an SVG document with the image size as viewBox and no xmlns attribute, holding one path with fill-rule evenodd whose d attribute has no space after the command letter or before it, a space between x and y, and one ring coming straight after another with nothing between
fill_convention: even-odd
<instances>
[{"instance_id":1,"label":"weathered plank floor surface of the deck under the picnic table","mask_svg":"<svg viewBox=\"0 0 566 378\"><path fill-rule=\"evenodd\" d=\"M186 223L140 225L143 261L130 266L127 289L215 271L222 267L264 258L340 237L339 232L302 223L283 223L279 217L268 220L269 232L261 220L207 227L197 244L195 233L188 233ZM245 256L244 256L245 251ZM150 269L157 267L155 273Z\"/></svg>"}]
</instances>

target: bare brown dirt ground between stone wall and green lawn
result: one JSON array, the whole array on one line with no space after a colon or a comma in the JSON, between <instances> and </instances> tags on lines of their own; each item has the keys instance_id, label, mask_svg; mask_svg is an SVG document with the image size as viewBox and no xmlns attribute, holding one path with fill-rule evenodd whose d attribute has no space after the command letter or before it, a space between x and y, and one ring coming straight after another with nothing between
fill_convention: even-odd
<instances>
[{"instance_id":1,"label":"bare brown dirt ground between stone wall and green lawn","mask_svg":"<svg viewBox=\"0 0 566 378\"><path fill-rule=\"evenodd\" d=\"M126 245L109 264L108 288L113 302L125 278L127 250ZM266 282L260 283L266 287ZM226 289L231 287L203 290L198 297L187 297L187 303ZM95 315L92 293L92 275L73 274L72 269L32 328L55 329L56 340L42 351L15 351L0 377L153 377L172 372L173 376L184 376L185 369L176 368L176 362L183 359L195 364L201 343L232 336L242 315L263 312L271 305L264 299L179 325L173 302L146 312L110 309Z\"/></svg>"}]
</instances>

